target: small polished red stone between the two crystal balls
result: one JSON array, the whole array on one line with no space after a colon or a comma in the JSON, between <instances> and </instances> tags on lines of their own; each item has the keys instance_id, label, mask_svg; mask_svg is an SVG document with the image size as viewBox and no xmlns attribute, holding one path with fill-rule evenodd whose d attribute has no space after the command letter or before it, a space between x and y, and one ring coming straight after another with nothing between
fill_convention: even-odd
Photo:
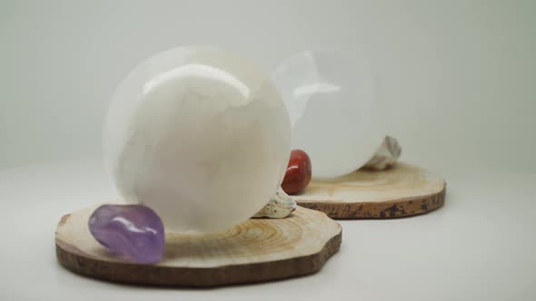
<instances>
[{"instance_id":1,"label":"small polished red stone between the two crystal balls","mask_svg":"<svg viewBox=\"0 0 536 301\"><path fill-rule=\"evenodd\" d=\"M311 181L311 160L303 150L291 151L291 160L284 175L283 188L288 194L296 194L309 185Z\"/></svg>"}]
</instances>

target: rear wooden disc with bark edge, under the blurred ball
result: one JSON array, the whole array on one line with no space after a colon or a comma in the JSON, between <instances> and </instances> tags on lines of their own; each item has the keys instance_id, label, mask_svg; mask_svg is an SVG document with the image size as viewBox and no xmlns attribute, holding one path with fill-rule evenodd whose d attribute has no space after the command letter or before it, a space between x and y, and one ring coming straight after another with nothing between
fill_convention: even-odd
<instances>
[{"instance_id":1,"label":"rear wooden disc with bark edge, under the blurred ball","mask_svg":"<svg viewBox=\"0 0 536 301\"><path fill-rule=\"evenodd\" d=\"M298 205L330 218L400 218L442 207L442 178L404 163L390 170L357 170L334 180L313 180Z\"/></svg>"}]
</instances>

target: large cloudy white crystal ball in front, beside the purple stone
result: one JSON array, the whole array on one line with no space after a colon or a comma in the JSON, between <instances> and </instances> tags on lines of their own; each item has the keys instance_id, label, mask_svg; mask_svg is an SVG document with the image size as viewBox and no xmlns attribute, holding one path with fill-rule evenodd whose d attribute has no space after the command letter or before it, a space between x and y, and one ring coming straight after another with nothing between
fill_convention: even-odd
<instances>
[{"instance_id":1,"label":"large cloudy white crystal ball in front, beside the purple stone","mask_svg":"<svg viewBox=\"0 0 536 301\"><path fill-rule=\"evenodd\" d=\"M166 230L210 232L251 218L290 156L279 92L233 53L180 47L140 63L117 87L104 154L120 195Z\"/></svg>"}]
</instances>

